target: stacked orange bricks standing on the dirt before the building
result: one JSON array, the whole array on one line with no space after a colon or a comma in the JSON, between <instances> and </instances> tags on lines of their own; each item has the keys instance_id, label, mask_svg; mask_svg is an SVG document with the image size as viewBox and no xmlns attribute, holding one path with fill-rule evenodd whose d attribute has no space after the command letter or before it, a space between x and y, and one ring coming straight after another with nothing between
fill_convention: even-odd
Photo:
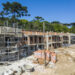
<instances>
[{"instance_id":1,"label":"stacked orange bricks standing on the dirt before the building","mask_svg":"<svg viewBox=\"0 0 75 75\"><path fill-rule=\"evenodd\" d=\"M34 57L37 58L37 61L44 63L45 57L46 61L50 61L56 63L56 53L51 52L49 50L38 50L34 52Z\"/></svg>"}]
</instances>

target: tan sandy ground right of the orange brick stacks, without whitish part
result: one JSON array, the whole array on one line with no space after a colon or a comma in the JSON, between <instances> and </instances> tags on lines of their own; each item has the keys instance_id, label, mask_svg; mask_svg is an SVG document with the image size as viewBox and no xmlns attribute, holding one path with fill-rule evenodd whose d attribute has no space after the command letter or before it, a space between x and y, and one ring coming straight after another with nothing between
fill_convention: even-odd
<instances>
[{"instance_id":1,"label":"tan sandy ground right of the orange brick stacks, without whitish part","mask_svg":"<svg viewBox=\"0 0 75 75\"><path fill-rule=\"evenodd\" d=\"M58 48L55 52L57 62L52 68L47 65L46 68L43 67L31 73L25 72L23 75L75 75L75 45L69 48Z\"/></svg>"}]
</instances>

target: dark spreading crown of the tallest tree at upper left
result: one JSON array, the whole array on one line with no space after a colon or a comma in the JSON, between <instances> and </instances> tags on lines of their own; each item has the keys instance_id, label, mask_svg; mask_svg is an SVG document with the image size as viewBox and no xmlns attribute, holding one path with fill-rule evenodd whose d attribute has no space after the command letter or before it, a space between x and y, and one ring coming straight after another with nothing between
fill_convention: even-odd
<instances>
[{"instance_id":1,"label":"dark spreading crown of the tallest tree at upper left","mask_svg":"<svg viewBox=\"0 0 75 75\"><path fill-rule=\"evenodd\" d=\"M9 17L15 21L22 16L30 16L28 14L28 8L26 6L22 6L18 2L7 2L3 3L3 11L0 12L1 16Z\"/></svg>"}]
</instances>

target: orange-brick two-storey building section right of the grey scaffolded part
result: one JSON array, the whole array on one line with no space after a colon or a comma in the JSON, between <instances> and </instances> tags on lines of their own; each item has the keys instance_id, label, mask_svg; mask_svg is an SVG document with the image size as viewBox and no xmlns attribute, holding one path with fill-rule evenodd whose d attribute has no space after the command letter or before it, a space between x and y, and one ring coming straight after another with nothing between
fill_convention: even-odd
<instances>
[{"instance_id":1,"label":"orange-brick two-storey building section right of the grey scaffolded part","mask_svg":"<svg viewBox=\"0 0 75 75\"><path fill-rule=\"evenodd\" d=\"M23 36L27 38L26 42L30 51L51 50L75 44L75 35L70 33L23 31Z\"/></svg>"}]
</instances>

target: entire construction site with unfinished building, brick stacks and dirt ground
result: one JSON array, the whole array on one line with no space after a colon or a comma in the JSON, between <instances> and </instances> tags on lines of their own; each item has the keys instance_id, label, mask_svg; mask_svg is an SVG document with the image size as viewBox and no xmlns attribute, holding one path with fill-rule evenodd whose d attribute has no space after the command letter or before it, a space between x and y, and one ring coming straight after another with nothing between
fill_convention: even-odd
<instances>
[{"instance_id":1,"label":"entire construction site with unfinished building, brick stacks and dirt ground","mask_svg":"<svg viewBox=\"0 0 75 75\"><path fill-rule=\"evenodd\" d=\"M75 75L75 34L0 27L0 75Z\"/></svg>"}]
</instances>

